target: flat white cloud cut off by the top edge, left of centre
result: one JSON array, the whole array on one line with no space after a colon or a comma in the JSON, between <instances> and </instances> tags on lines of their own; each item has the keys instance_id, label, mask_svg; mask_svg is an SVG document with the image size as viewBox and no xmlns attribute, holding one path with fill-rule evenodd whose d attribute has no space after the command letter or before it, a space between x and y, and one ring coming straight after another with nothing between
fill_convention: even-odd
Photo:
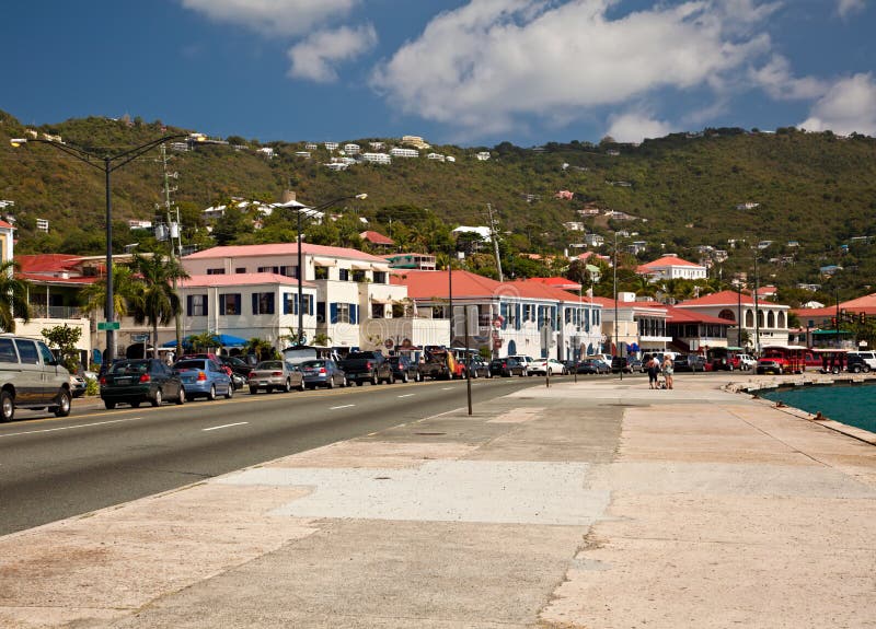
<instances>
[{"instance_id":1,"label":"flat white cloud cut off by the top edge, left of centre","mask_svg":"<svg viewBox=\"0 0 876 629\"><path fill-rule=\"evenodd\" d=\"M268 35L303 35L327 20L346 15L359 0L182 0L183 7L217 22Z\"/></svg>"}]
</instances>

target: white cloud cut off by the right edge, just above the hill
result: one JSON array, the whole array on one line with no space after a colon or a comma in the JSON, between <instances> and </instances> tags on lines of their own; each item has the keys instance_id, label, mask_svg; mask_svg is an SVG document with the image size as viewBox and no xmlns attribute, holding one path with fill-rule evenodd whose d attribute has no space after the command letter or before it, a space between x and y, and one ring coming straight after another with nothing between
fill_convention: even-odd
<instances>
[{"instance_id":1,"label":"white cloud cut off by the right edge, just above the hill","mask_svg":"<svg viewBox=\"0 0 876 629\"><path fill-rule=\"evenodd\" d=\"M838 81L799 125L807 131L876 137L876 81L873 74L855 74Z\"/></svg>"}]
</instances>

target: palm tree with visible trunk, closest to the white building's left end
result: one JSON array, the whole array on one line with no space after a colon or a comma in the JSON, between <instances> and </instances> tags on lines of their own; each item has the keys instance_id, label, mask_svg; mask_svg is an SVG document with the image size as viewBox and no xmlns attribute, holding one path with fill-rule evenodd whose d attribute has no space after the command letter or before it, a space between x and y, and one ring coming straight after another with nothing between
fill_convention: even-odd
<instances>
[{"instance_id":1,"label":"palm tree with visible trunk, closest to the white building's left end","mask_svg":"<svg viewBox=\"0 0 876 629\"><path fill-rule=\"evenodd\" d=\"M159 324L170 324L182 311L180 295L173 290L171 282L187 278L188 273L178 261L161 254L149 257L135 255L131 266L141 282L134 299L134 321L147 322L152 326L153 351L158 358Z\"/></svg>"}]
</instances>

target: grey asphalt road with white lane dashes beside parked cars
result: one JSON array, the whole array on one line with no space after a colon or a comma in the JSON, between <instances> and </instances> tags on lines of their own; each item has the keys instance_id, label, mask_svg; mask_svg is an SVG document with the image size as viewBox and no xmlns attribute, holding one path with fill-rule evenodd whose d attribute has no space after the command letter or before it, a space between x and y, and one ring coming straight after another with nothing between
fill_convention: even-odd
<instances>
[{"instance_id":1,"label":"grey asphalt road with white lane dashes beside parked cars","mask_svg":"<svg viewBox=\"0 0 876 629\"><path fill-rule=\"evenodd\" d=\"M572 376L566 376L570 380ZM595 377L595 376L579 376ZM472 381L479 401L543 377ZM0 535L466 406L466 384L427 382L258 394L0 424Z\"/></svg>"}]
</instances>

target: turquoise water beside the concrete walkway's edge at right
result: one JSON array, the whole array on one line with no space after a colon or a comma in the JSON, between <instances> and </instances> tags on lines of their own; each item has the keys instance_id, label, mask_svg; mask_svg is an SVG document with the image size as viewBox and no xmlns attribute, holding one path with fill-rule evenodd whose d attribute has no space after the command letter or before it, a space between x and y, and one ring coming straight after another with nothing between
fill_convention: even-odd
<instances>
[{"instance_id":1,"label":"turquoise water beside the concrete walkway's edge at right","mask_svg":"<svg viewBox=\"0 0 876 629\"><path fill-rule=\"evenodd\" d=\"M876 385L794 387L761 395L807 412L876 432Z\"/></svg>"}]
</instances>

